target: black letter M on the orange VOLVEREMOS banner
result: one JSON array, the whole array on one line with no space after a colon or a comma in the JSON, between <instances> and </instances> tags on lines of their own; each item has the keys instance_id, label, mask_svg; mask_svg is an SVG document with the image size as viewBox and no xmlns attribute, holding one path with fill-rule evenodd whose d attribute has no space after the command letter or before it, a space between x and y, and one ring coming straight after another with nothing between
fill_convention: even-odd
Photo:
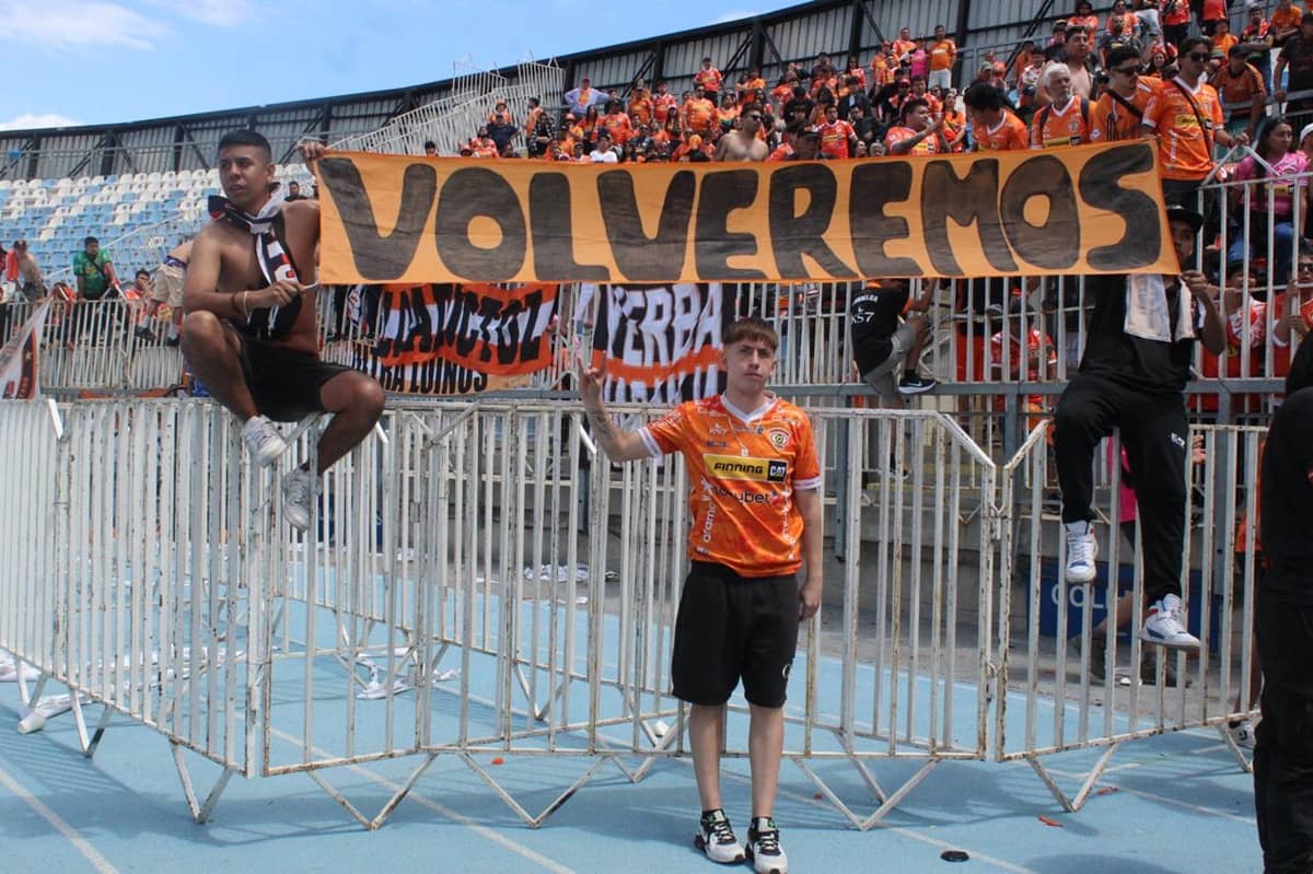
<instances>
[{"instance_id":1,"label":"black letter M on the orange VOLVEREMOS banner","mask_svg":"<svg viewBox=\"0 0 1313 874\"><path fill-rule=\"evenodd\" d=\"M926 249L939 273L962 276L948 240L948 219L962 227L976 222L981 249L990 265L1007 273L1016 270L998 218L998 159L974 161L966 178L958 178L948 161L927 164L920 182L920 215Z\"/></svg>"}]
</instances>

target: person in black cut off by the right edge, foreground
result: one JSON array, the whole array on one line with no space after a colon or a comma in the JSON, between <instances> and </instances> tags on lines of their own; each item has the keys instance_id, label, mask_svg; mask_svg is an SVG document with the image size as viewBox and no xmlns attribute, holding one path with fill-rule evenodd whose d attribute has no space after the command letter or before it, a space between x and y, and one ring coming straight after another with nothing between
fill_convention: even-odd
<instances>
[{"instance_id":1,"label":"person in black cut off by the right edge, foreground","mask_svg":"<svg viewBox=\"0 0 1313 874\"><path fill-rule=\"evenodd\" d=\"M1313 870L1313 343L1300 345L1263 449L1258 584L1263 720L1254 808L1263 870Z\"/></svg>"}]
</instances>

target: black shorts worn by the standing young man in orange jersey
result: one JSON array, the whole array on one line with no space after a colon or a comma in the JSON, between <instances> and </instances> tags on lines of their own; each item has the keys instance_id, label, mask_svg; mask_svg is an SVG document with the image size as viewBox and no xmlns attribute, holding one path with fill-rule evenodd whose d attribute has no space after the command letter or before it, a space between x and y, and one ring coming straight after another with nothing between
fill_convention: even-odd
<instances>
[{"instance_id":1,"label":"black shorts worn by the standing young man in orange jersey","mask_svg":"<svg viewBox=\"0 0 1313 874\"><path fill-rule=\"evenodd\" d=\"M675 697L722 705L739 678L748 703L783 707L798 648L798 577L744 577L693 562L675 619Z\"/></svg>"}]
</instances>

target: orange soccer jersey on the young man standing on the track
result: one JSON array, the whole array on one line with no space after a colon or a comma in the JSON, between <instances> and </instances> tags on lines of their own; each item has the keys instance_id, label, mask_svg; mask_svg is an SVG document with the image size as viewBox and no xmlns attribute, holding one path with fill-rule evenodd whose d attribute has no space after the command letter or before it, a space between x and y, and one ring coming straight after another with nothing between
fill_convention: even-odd
<instances>
[{"instance_id":1,"label":"orange soccer jersey on the young man standing on the track","mask_svg":"<svg viewBox=\"0 0 1313 874\"><path fill-rule=\"evenodd\" d=\"M639 432L653 457L681 453L688 466L688 558L739 576L784 576L802 567L802 513L794 492L821 487L806 413L772 399L744 413L721 395L691 400Z\"/></svg>"}]
</instances>

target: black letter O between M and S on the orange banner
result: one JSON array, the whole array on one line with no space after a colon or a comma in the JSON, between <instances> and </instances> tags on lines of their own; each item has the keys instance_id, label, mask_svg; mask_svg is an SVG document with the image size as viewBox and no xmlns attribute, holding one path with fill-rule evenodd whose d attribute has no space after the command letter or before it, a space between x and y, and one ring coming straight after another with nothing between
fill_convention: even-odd
<instances>
[{"instance_id":1,"label":"black letter O between M and S on the orange banner","mask_svg":"<svg viewBox=\"0 0 1313 874\"><path fill-rule=\"evenodd\" d=\"M1025 205L1032 197L1049 198L1049 218L1044 224L1025 220ZM1056 157L1027 159L1003 185L1003 230L1016 253L1035 266L1066 270L1081 259L1081 214L1071 175Z\"/></svg>"}]
</instances>

